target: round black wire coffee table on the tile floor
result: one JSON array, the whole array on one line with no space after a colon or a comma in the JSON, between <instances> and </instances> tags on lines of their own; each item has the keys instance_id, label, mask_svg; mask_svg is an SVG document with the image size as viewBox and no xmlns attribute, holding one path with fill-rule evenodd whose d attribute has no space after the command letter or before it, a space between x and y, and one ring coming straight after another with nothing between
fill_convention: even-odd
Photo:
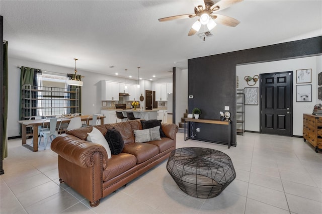
<instances>
[{"instance_id":1,"label":"round black wire coffee table on the tile floor","mask_svg":"<svg viewBox=\"0 0 322 214\"><path fill-rule=\"evenodd\" d=\"M183 192L198 198L219 195L236 177L228 155L200 147L172 151L167 170Z\"/></svg>"}]
</instances>

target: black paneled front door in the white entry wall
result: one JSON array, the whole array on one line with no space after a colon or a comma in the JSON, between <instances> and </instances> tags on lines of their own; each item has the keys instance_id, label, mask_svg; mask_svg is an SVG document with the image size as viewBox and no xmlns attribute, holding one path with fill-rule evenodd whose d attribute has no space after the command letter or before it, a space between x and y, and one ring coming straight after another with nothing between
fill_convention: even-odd
<instances>
[{"instance_id":1,"label":"black paneled front door in the white entry wall","mask_svg":"<svg viewBox=\"0 0 322 214\"><path fill-rule=\"evenodd\" d=\"M292 135L293 72L260 74L260 130Z\"/></svg>"}]
</instances>

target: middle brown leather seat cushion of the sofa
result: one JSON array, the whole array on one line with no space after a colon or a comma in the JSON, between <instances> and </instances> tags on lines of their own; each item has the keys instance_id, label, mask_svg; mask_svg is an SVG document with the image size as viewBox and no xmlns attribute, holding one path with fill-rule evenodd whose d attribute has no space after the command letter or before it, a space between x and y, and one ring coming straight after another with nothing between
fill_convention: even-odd
<instances>
[{"instance_id":1,"label":"middle brown leather seat cushion of the sofa","mask_svg":"<svg viewBox=\"0 0 322 214\"><path fill-rule=\"evenodd\" d=\"M130 143L124 145L124 153L132 154L136 157L136 163L142 163L159 153L157 146L147 143Z\"/></svg>"}]
</instances>

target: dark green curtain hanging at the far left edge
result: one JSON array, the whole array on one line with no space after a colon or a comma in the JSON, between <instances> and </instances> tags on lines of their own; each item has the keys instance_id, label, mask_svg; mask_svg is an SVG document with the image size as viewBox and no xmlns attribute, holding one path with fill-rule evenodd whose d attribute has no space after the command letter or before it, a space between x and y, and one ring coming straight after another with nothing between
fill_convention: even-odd
<instances>
[{"instance_id":1,"label":"dark green curtain hanging at the far left edge","mask_svg":"<svg viewBox=\"0 0 322 214\"><path fill-rule=\"evenodd\" d=\"M3 113L3 139L2 139L2 158L8 157L8 42L4 43L4 113Z\"/></svg>"}]
</instances>

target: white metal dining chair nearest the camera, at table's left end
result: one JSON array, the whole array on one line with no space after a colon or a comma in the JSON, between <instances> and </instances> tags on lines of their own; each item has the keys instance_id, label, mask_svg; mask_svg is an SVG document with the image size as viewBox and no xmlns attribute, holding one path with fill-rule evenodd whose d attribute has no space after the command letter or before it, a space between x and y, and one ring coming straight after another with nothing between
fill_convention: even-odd
<instances>
[{"instance_id":1,"label":"white metal dining chair nearest the camera, at table's left end","mask_svg":"<svg viewBox=\"0 0 322 214\"><path fill-rule=\"evenodd\" d=\"M46 130L43 127L45 126L45 123L47 123L48 121L49 121L49 130ZM56 130L57 121L60 121L59 126L58 126L58 130ZM42 123L40 135L39 135L38 146L40 145L41 138L44 137L44 144L45 144L44 150L46 150L46 146L48 144L49 139L51 142L54 138L56 138L58 136L58 131L60 129L60 125L61 125L60 118L50 118L50 119L44 120Z\"/></svg>"}]
</instances>

